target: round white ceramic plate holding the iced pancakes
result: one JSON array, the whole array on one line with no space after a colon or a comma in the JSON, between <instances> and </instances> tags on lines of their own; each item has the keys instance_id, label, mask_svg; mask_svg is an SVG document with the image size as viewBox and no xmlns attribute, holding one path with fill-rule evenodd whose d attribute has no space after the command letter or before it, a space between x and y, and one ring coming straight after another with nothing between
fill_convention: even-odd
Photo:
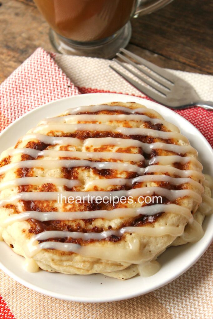
<instances>
[{"instance_id":1,"label":"round white ceramic plate holding the iced pancakes","mask_svg":"<svg viewBox=\"0 0 213 319\"><path fill-rule=\"evenodd\" d=\"M202 134L186 119L164 106L138 97L113 93L82 94L58 100L27 113L0 134L0 153L14 145L27 130L45 117L58 115L67 108L82 105L122 101L137 102L158 111L163 117L176 124L199 152L204 172L213 176L213 150ZM194 244L170 247L158 258L162 267L154 276L135 277L126 281L108 278L101 274L80 276L49 273L40 270L28 273L23 269L24 258L16 255L0 242L0 268L19 283L37 292L72 301L106 302L139 296L166 285L189 269L205 252L213 238L213 216L206 217L203 223L205 235Z\"/></svg>"}]
</instances>

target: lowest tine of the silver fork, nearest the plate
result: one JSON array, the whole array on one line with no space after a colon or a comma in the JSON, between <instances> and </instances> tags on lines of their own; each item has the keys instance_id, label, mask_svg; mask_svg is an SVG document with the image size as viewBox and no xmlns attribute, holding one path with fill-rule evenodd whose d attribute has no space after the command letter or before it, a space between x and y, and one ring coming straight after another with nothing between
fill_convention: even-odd
<instances>
[{"instance_id":1,"label":"lowest tine of the silver fork, nearest the plate","mask_svg":"<svg viewBox=\"0 0 213 319\"><path fill-rule=\"evenodd\" d=\"M126 74L124 74L123 72L121 72L120 70L117 70L116 68L114 68L114 66L110 65L110 68L112 70L114 70L115 72L117 72L120 76L122 76L127 82L129 82L130 84L132 84L134 87L136 87L136 89L138 89L139 91L143 92L144 94L146 94L147 96L149 96L151 99L156 100L159 103L164 104L164 100L165 98L162 97L161 95L159 95L158 93L148 89L147 87L145 87L142 84L139 84L138 82L134 81L132 78L128 77Z\"/></svg>"}]
</instances>

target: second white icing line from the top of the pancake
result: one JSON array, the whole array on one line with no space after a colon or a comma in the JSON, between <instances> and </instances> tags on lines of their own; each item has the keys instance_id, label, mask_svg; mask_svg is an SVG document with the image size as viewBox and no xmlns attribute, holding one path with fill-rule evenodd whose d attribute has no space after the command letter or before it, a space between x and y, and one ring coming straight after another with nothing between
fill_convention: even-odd
<instances>
[{"instance_id":1,"label":"second white icing line from the top of the pancake","mask_svg":"<svg viewBox=\"0 0 213 319\"><path fill-rule=\"evenodd\" d=\"M151 118L147 115L130 115L130 114L80 114L80 115L65 115L46 118L39 124L56 124L56 123L73 123L73 122L113 122L113 121L137 121L151 122L152 124L163 124L167 129L179 133L177 126L158 118Z\"/></svg>"}]
</instances>

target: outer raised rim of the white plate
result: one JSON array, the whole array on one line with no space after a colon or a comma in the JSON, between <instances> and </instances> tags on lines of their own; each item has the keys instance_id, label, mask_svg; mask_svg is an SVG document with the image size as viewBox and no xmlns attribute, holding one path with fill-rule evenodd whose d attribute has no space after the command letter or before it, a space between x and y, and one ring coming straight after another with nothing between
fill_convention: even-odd
<instances>
[{"instance_id":1,"label":"outer raised rim of the white plate","mask_svg":"<svg viewBox=\"0 0 213 319\"><path fill-rule=\"evenodd\" d=\"M212 157L213 157L213 150L212 150L212 147L211 145L209 144L209 142L207 141L207 139L202 135L202 133L192 124L190 123L188 120L186 120L183 116L179 115L178 113L174 112L173 110L171 110L170 108L167 108L157 102L154 102L154 101L151 101L151 100L148 100L148 99L145 99L145 98L141 98L141 97L138 97L138 96L133 96L133 95L128 95L128 94L121 94L121 93L86 93L86 94L79 94L79 95L74 95L74 96L69 96L69 97L65 97L65 98L62 98L62 99L57 99L55 101L51 101L51 102L48 102L48 103L45 103L44 105L42 106L39 106L37 108L34 108L33 110L30 110L28 111L27 113L21 115L19 118L17 118L15 121L13 121L12 123L10 123L4 130L1 131L0 133L0 139L2 138L2 136L4 136L5 132L7 132L8 130L10 130L10 128L15 125L17 122L19 122L21 119L25 118L27 115L31 115L32 113L34 112L39 112L39 110L42 108L45 108L49 105L52 105L52 104L58 104L60 103L61 101L64 101L64 100L72 100L73 98L77 98L77 99L81 99L81 98L87 98L87 97L98 97L100 96L100 98L102 98L104 95L106 95L106 98L107 96L115 96L116 98L119 97L119 96L122 96L122 98L125 98L126 99L139 99L141 101L141 103L143 103L144 101L144 104L145 103L148 103L150 105L148 105L147 107L150 108L151 105L153 106L157 106L157 107L160 107L159 109L159 113L161 111L161 108L163 109L166 109L167 112L168 112L168 115L169 113L171 113L172 115L175 114L176 117L178 118L181 118L181 121L186 121L186 123L190 124L190 126L193 126L193 129L196 131L196 133L198 135L200 135L204 140L205 140L205 147L208 147L209 148L209 151L211 152L212 154ZM119 101L119 100L117 100ZM102 102L103 103L103 102ZM146 106L146 104L145 104ZM73 106L74 107L74 106ZM72 108L72 106L70 106L70 108ZM181 127L180 127L180 130L181 130ZM75 296L67 296L67 295L64 295L62 293L55 293L53 291L50 291L48 289L44 289L44 288L40 288L38 286L34 286L34 284L31 284L29 282L27 282L27 280L24 280L22 278L19 278L18 275L14 274L11 270L7 269L6 266L4 266L4 264L2 264L2 262L0 261L0 269L3 270L7 275L9 275L11 278L15 279L17 282L19 282L20 284L26 286L27 288L30 288L36 292L39 292L39 293L42 293L42 294L45 294L45 295L48 295L50 297L54 297L54 298L57 298L57 299L62 299L62 300L67 300L67 301L77 301L77 302L90 302L90 303L102 303L102 302L112 302L112 301L118 301L118 300L125 300L125 299L130 299L130 298L134 298L134 297L137 297L137 296L140 296L140 295L143 295L143 294L146 294L146 293L149 293L151 291L154 291L156 289L159 289L165 285L167 285L168 283L170 283L171 281L175 280L176 278L178 278L179 276L181 276L183 273L185 273L189 268L191 268L194 263L196 263L198 261L198 259L205 253L205 251L209 248L210 244L211 244L211 241L213 240L213 234L211 236L211 238L208 239L208 241L205 243L205 245L203 246L203 248L199 251L199 254L197 254L196 256L194 256L193 260L191 261L191 263L187 266L187 267L184 267L184 269L181 271L181 272L178 272L175 276L173 276L172 278L169 278L168 280L165 280L163 284L161 285L158 285L156 286L154 289L152 287L150 287L149 289L146 289L144 292L139 292L139 291L136 291L134 294L131 294L131 295L128 295L128 293L124 293L122 296L118 296L118 297L100 297L100 299L97 301L95 297L87 297L87 300L85 297L75 297ZM131 280L131 278L129 279Z\"/></svg>"}]
</instances>

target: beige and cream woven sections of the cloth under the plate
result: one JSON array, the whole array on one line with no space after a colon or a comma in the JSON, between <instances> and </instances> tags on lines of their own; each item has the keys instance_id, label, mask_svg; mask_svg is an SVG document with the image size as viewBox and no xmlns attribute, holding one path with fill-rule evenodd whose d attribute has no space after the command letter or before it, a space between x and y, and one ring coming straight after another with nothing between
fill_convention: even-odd
<instances>
[{"instance_id":1,"label":"beige and cream woven sections of the cloth under the plate","mask_svg":"<svg viewBox=\"0 0 213 319\"><path fill-rule=\"evenodd\" d=\"M81 93L86 88L85 93L104 90L141 95L110 70L107 60L57 54L52 58L75 86L81 88ZM203 99L213 100L210 90L213 77L173 72L192 83ZM16 319L210 319L213 318L212 262L213 245L193 267L170 284L137 298L111 303L57 300L20 285L2 271L0 293ZM13 317L0 314L0 319L3 318Z\"/></svg>"}]
</instances>

